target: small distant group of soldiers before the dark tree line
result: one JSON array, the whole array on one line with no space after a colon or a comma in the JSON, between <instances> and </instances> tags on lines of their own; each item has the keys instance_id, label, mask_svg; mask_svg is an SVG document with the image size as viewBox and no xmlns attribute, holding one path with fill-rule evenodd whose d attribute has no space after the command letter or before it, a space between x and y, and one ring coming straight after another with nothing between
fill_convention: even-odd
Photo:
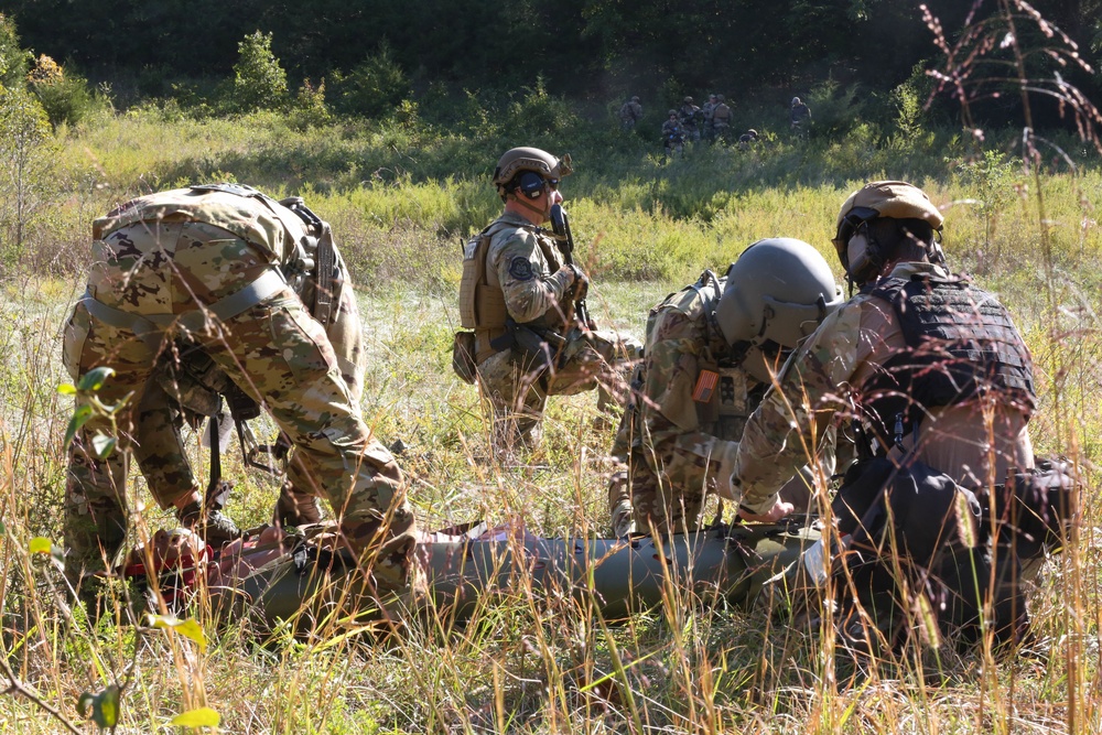
<instances>
[{"instance_id":1,"label":"small distant group of soldiers before the dark tree line","mask_svg":"<svg viewBox=\"0 0 1102 735\"><path fill-rule=\"evenodd\" d=\"M631 97L619 109L620 126L629 132L642 119L642 104L639 97ZM667 153L683 151L688 142L732 141L733 115L723 95L711 94L702 107L698 107L690 96L681 100L681 107L670 109L662 122L662 145ZM798 140L806 140L811 128L811 108L799 97L793 97L789 108L789 130ZM749 128L734 141L738 150L749 150L758 140L758 131Z\"/></svg>"}]
</instances>

